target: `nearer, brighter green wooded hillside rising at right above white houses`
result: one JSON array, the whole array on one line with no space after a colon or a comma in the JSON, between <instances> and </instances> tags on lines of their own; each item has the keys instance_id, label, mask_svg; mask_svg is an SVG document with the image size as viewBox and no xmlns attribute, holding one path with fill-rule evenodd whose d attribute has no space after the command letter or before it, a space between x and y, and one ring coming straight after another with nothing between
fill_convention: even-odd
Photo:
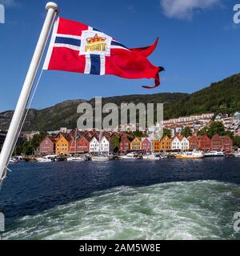
<instances>
[{"instance_id":1,"label":"nearer, brighter green wooded hillside rising at right above white houses","mask_svg":"<svg viewBox=\"0 0 240 256\"><path fill-rule=\"evenodd\" d=\"M214 82L205 89L165 106L164 114L166 118L174 118L206 112L234 113L236 110L240 110L240 74Z\"/></svg>"}]
</instances>

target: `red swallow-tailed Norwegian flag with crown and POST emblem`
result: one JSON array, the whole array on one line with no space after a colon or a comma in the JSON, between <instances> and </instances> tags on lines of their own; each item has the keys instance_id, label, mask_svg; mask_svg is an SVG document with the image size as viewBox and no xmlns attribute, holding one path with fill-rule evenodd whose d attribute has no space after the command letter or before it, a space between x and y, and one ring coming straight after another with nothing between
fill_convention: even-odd
<instances>
[{"instance_id":1,"label":"red swallow-tailed Norwegian flag with crown and POST emblem","mask_svg":"<svg viewBox=\"0 0 240 256\"><path fill-rule=\"evenodd\" d=\"M164 70L154 66L146 57L158 44L143 48L127 48L109 35L65 18L58 18L43 70L63 70L84 74L113 74L121 78L154 78L159 86L158 73Z\"/></svg>"}]
</instances>

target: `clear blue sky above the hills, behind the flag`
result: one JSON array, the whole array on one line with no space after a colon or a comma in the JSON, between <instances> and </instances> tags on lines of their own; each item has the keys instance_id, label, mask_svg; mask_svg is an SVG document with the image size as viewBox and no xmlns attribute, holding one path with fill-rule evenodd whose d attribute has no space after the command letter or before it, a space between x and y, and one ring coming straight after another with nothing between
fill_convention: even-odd
<instances>
[{"instance_id":1,"label":"clear blue sky above the hills, behind the flag","mask_svg":"<svg viewBox=\"0 0 240 256\"><path fill-rule=\"evenodd\" d=\"M0 0L0 111L14 109L45 18L47 1ZM61 71L45 71L31 107L42 109L66 99L122 94L194 92L239 72L240 24L228 0L56 0L60 16L86 23L129 47L147 46L159 37L150 56L165 66L162 85ZM226 88L227 93L227 88Z\"/></svg>"}]
</instances>

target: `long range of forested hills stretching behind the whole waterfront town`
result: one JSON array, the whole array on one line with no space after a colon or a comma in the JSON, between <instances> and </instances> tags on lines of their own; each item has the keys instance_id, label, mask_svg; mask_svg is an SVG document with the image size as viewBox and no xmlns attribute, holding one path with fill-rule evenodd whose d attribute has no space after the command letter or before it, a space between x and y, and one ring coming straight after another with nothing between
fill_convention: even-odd
<instances>
[{"instance_id":1,"label":"long range of forested hills stretching behind the whole waterfront town","mask_svg":"<svg viewBox=\"0 0 240 256\"><path fill-rule=\"evenodd\" d=\"M61 126L74 128L79 116L77 106L81 102L90 102L94 106L94 99L78 99L58 103L43 110L30 110L23 130L58 130ZM114 102L118 106L122 102L164 103L165 119L206 112L234 113L240 110L240 74L214 82L193 94L137 94L102 98L102 104L106 102ZM0 113L0 130L8 128L12 114L13 111Z\"/></svg>"}]
</instances>

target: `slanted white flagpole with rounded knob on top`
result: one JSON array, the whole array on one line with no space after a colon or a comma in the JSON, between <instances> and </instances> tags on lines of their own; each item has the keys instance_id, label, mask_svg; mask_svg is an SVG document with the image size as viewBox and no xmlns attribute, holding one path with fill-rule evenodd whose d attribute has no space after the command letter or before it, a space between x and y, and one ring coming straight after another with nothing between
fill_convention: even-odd
<instances>
[{"instance_id":1,"label":"slanted white flagpole with rounded knob on top","mask_svg":"<svg viewBox=\"0 0 240 256\"><path fill-rule=\"evenodd\" d=\"M9 163L14 146L18 140L18 134L22 126L26 105L29 101L34 79L38 72L38 66L41 62L42 54L45 50L46 42L50 35L50 30L54 24L54 19L58 14L58 5L54 2L48 2L46 4L46 11L46 19L42 26L42 31L35 48L33 58L30 62L30 67L26 74L25 82L23 83L22 91L18 98L18 103L15 108L13 118L10 122L9 130L6 134L5 142L2 146L2 151L0 154L0 184L2 182L2 178L4 178L6 174L6 166Z\"/></svg>"}]
</instances>

